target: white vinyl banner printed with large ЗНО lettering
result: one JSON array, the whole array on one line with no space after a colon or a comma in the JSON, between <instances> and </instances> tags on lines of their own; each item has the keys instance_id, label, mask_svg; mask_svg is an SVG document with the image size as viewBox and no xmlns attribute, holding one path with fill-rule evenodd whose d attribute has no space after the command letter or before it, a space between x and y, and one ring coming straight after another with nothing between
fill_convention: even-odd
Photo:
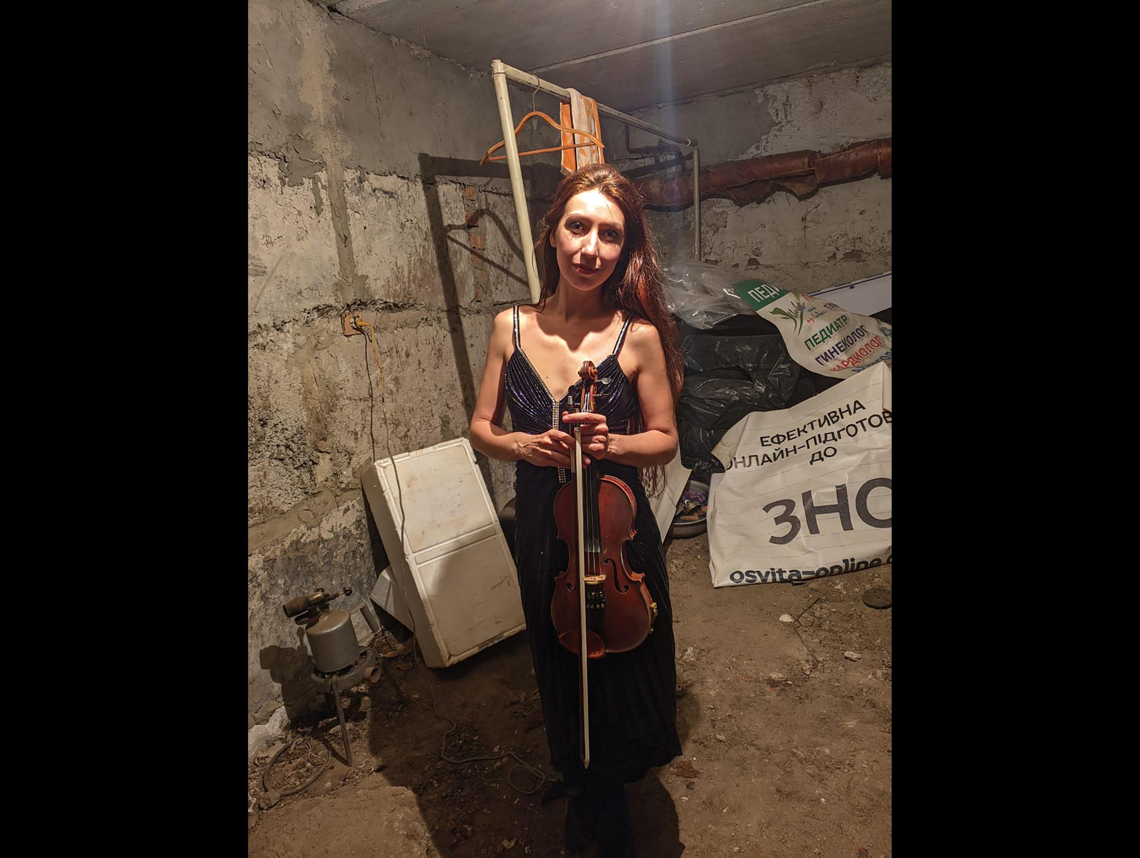
<instances>
[{"instance_id":1,"label":"white vinyl banner printed with large \u0417\u041d\u041e lettering","mask_svg":"<svg viewBox=\"0 0 1140 858\"><path fill-rule=\"evenodd\" d=\"M793 408L752 411L712 448L714 587L803 581L890 563L890 368Z\"/></svg>"}]
</instances>

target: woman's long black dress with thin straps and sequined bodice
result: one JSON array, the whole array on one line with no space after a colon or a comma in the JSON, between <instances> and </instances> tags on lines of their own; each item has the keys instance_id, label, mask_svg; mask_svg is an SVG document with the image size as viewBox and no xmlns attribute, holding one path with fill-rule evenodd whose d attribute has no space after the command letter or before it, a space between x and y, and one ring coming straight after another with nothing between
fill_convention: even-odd
<instances>
[{"instance_id":1,"label":"woman's long black dress with thin straps and sequined bodice","mask_svg":"<svg viewBox=\"0 0 1140 858\"><path fill-rule=\"evenodd\" d=\"M629 328L627 319L613 351L597 363L594 410L604 414L610 432L640 430L637 392L618 363L618 352ZM514 308L514 352L506 366L507 407L515 432L540 434L562 423L562 411L579 410L581 382L559 401L551 395L527 358L519 337L519 308ZM602 459L604 474L626 482L637 500L636 537L627 545L632 569L644 573L658 606L653 631L627 653L592 659L589 677L591 778L633 783L649 768L662 766L681 753L676 726L676 664L673 607L661 537L645 497L637 468ZM519 571L522 608L527 619L535 678L542 695L551 765L569 784L584 777L578 750L578 656L559 644L551 620L554 578L567 567L568 548L557 538L554 496L567 484L568 472L520 460L515 467L514 561Z\"/></svg>"}]
</instances>

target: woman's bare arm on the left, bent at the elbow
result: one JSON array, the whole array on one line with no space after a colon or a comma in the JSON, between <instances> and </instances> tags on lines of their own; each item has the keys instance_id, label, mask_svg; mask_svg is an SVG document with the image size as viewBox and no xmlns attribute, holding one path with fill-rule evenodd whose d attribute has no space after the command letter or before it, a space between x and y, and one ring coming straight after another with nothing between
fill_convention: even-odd
<instances>
[{"instance_id":1,"label":"woman's bare arm on the left, bent at the elbow","mask_svg":"<svg viewBox=\"0 0 1140 858\"><path fill-rule=\"evenodd\" d=\"M502 426L506 408L506 360L512 346L512 311L504 310L495 317L491 338L487 345L483 381L479 385L475 411L471 417L471 446L492 459L532 465L570 467L573 438L559 430L540 435L507 432Z\"/></svg>"}]
</instances>

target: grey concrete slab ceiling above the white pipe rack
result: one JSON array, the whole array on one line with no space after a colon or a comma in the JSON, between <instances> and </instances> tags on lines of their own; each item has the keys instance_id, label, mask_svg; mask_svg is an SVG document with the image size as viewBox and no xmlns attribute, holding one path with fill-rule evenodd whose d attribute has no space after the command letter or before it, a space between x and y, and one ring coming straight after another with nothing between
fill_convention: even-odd
<instances>
[{"instance_id":1,"label":"grey concrete slab ceiling above the white pipe rack","mask_svg":"<svg viewBox=\"0 0 1140 858\"><path fill-rule=\"evenodd\" d=\"M372 30L619 111L890 58L891 0L342 0Z\"/></svg>"}]
</instances>

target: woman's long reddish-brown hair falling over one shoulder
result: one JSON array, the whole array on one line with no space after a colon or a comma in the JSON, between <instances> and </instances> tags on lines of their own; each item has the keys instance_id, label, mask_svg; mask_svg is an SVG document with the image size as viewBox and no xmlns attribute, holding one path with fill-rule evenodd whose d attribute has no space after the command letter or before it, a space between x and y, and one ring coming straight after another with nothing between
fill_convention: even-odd
<instances>
[{"instance_id":1,"label":"woman's long reddish-brown hair falling over one shoulder","mask_svg":"<svg viewBox=\"0 0 1140 858\"><path fill-rule=\"evenodd\" d=\"M665 370L669 379L669 392L676 406L684 381L684 363L677 327L665 303L663 277L657 261L653 239L645 222L645 201L634 183L609 164L591 164L565 177L554 191L554 201L543 215L543 230L535 243L535 254L543 260L543 287L538 293L538 307L559 287L557 253L551 246L551 235L557 229L567 203L577 194L598 190L612 199L626 219L625 240L621 255L613 273L602 285L602 295L611 300L627 316L650 322L657 328L665 350ZM659 484L663 485L665 468L657 466L644 474L650 495Z\"/></svg>"}]
</instances>

